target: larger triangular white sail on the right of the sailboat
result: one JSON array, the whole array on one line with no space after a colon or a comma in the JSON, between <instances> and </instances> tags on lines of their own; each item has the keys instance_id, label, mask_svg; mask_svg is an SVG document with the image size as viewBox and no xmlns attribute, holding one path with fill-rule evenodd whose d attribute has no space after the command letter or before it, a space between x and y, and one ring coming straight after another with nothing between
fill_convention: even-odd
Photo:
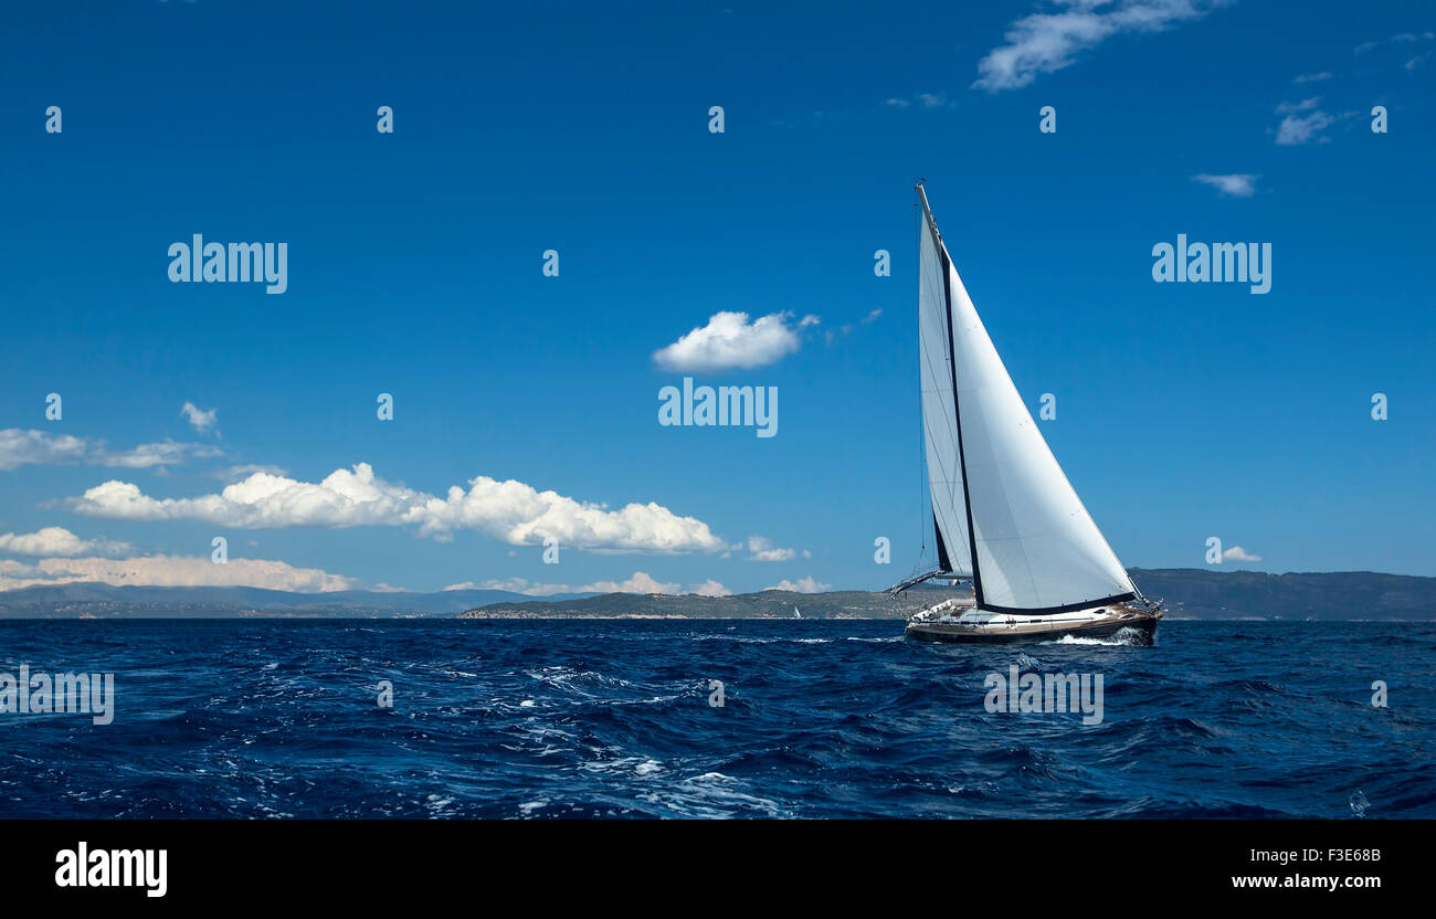
<instances>
[{"instance_id":1,"label":"larger triangular white sail on the right of the sailboat","mask_svg":"<svg viewBox=\"0 0 1436 919\"><path fill-rule=\"evenodd\" d=\"M926 198L923 205L926 210ZM935 235L931 214L923 235ZM1037 429L962 279L946 257L946 247L936 238L932 244L948 266L948 322L958 378L959 442L954 460L961 467L971 503L972 570L979 606L1050 613L1130 599L1134 594L1132 579ZM926 260L926 251L923 257ZM929 439L929 464L932 452ZM962 484L954 491L961 494L961 488Z\"/></svg>"}]
</instances>

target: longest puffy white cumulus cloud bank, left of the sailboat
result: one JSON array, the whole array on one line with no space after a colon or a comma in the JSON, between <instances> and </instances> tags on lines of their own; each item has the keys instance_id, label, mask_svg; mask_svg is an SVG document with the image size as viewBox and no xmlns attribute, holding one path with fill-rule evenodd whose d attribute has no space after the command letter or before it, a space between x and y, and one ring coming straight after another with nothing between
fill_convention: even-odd
<instances>
[{"instance_id":1,"label":"longest puffy white cumulus cloud bank, left of the sailboat","mask_svg":"<svg viewBox=\"0 0 1436 919\"><path fill-rule=\"evenodd\" d=\"M721 551L725 543L708 524L666 507L580 503L556 491L487 475L468 490L451 485L444 497L388 482L368 462L335 470L320 482L254 472L218 494L154 498L138 485L111 480L67 505L106 520L202 520L224 527L412 526L447 541L457 530L477 530L511 546L541 546L549 537L566 549L593 551Z\"/></svg>"}]
</instances>

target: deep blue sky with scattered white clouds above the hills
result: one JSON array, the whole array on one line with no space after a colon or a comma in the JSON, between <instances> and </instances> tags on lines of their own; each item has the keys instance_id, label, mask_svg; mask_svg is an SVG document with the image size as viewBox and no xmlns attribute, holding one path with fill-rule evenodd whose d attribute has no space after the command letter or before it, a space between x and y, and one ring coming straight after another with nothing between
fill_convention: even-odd
<instances>
[{"instance_id":1,"label":"deep blue sky with scattered white clouds above the hills","mask_svg":"<svg viewBox=\"0 0 1436 919\"><path fill-rule=\"evenodd\" d=\"M1129 567L1436 574L1429 4L449 6L10 13L0 586L899 580L918 177ZM195 233L289 290L171 283ZM1179 233L1271 291L1155 283ZM752 366L655 360L719 313ZM661 426L685 375L777 437Z\"/></svg>"}]
</instances>

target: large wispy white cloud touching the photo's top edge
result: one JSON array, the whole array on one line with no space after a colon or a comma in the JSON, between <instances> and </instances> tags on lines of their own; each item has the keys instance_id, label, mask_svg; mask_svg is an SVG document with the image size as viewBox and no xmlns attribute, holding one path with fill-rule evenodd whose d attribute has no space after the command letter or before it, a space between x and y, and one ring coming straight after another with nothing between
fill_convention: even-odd
<instances>
[{"instance_id":1,"label":"large wispy white cloud touching the photo's top edge","mask_svg":"<svg viewBox=\"0 0 1436 919\"><path fill-rule=\"evenodd\" d=\"M1178 23L1200 19L1213 0L1053 0L1014 22L1007 45L978 62L979 79L972 83L988 92L1027 86L1043 73L1076 62L1078 52L1122 33L1162 32Z\"/></svg>"}]
</instances>

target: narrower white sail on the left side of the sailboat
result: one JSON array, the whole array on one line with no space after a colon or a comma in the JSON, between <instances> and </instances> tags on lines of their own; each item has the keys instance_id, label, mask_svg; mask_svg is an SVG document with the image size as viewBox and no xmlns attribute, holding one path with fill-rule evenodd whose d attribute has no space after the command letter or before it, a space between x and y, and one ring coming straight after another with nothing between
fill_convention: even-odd
<instances>
[{"instance_id":1,"label":"narrower white sail on the left side of the sailboat","mask_svg":"<svg viewBox=\"0 0 1436 919\"><path fill-rule=\"evenodd\" d=\"M952 335L942 277L945 254L938 251L938 240L928 225L923 225L919 235L918 358L922 368L922 429L928 447L932 516L945 556L939 559L939 564L958 574L971 574L966 495L962 491L958 457Z\"/></svg>"}]
</instances>

